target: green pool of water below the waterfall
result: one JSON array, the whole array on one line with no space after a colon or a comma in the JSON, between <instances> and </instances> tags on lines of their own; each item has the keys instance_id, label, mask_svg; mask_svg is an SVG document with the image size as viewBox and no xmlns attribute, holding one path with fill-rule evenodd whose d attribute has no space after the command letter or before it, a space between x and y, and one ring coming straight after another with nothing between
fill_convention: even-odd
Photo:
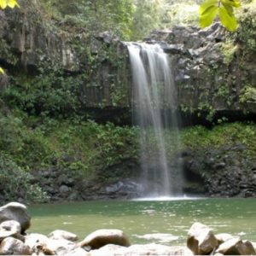
<instances>
[{"instance_id":1,"label":"green pool of water below the waterfall","mask_svg":"<svg viewBox=\"0 0 256 256\"><path fill-rule=\"evenodd\" d=\"M29 231L45 235L61 229L83 239L94 230L120 229L132 243L177 245L184 244L189 227L199 221L215 233L256 241L256 199L87 201L33 206L29 212Z\"/></svg>"}]
</instances>

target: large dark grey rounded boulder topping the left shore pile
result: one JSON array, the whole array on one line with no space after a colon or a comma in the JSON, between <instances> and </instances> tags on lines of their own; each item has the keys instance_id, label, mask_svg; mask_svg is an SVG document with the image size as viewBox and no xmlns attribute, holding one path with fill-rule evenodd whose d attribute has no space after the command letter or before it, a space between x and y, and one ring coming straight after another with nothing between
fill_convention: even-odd
<instances>
[{"instance_id":1,"label":"large dark grey rounded boulder topping the left shore pile","mask_svg":"<svg viewBox=\"0 0 256 256\"><path fill-rule=\"evenodd\" d=\"M20 223L21 234L30 227L30 219L26 206L18 202L10 202L0 207L0 224L6 220L15 220Z\"/></svg>"}]
</instances>

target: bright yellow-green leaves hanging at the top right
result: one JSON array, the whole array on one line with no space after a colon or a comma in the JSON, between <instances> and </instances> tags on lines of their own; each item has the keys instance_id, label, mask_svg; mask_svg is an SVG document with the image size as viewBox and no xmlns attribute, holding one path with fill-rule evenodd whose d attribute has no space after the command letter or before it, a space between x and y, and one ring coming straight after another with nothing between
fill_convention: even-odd
<instances>
[{"instance_id":1,"label":"bright yellow-green leaves hanging at the top right","mask_svg":"<svg viewBox=\"0 0 256 256\"><path fill-rule=\"evenodd\" d=\"M234 8L241 6L240 0L206 0L199 10L200 26L210 26L218 15L223 26L230 32L236 31L237 22Z\"/></svg>"}]
</instances>

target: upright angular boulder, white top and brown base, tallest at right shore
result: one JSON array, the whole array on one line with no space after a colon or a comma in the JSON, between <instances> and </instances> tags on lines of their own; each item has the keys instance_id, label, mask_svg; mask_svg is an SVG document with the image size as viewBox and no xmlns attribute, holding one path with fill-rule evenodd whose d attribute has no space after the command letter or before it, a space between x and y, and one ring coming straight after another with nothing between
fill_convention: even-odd
<instances>
[{"instance_id":1,"label":"upright angular boulder, white top and brown base, tallest at right shore","mask_svg":"<svg viewBox=\"0 0 256 256\"><path fill-rule=\"evenodd\" d=\"M218 240L207 225L195 223L189 230L187 246L194 254L206 255L218 247Z\"/></svg>"}]
</instances>

